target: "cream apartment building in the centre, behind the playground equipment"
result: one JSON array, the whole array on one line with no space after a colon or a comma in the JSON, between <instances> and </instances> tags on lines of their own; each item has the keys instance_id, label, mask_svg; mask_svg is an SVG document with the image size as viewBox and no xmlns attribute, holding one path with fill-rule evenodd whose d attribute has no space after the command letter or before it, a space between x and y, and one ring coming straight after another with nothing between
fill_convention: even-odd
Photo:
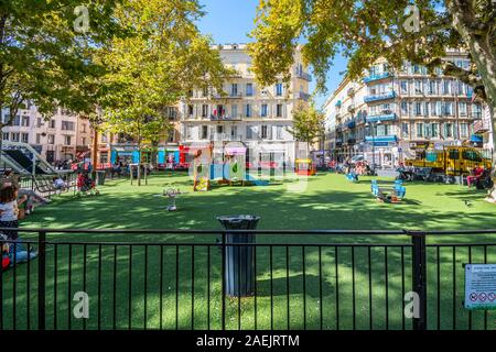
<instances>
[{"instance_id":1,"label":"cream apartment building in the centre, behind the playground equipment","mask_svg":"<svg viewBox=\"0 0 496 352\"><path fill-rule=\"evenodd\" d=\"M311 81L300 52L294 54L289 82L281 79L272 87L259 87L245 44L216 47L225 65L238 74L224 84L226 95L195 89L181 102L182 148L214 143L214 157L222 157L224 147L237 142L246 147L247 158L255 164L261 160L293 162L299 156L299 143L288 128L292 125L293 109L310 99Z\"/></svg>"}]
</instances>

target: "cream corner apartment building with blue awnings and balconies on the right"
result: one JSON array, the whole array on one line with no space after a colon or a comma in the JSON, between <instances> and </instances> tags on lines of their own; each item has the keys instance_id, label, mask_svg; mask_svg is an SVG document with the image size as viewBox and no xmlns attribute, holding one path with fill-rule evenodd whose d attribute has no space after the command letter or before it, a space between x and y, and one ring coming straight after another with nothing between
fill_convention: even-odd
<instances>
[{"instance_id":1,"label":"cream corner apartment building with blue awnings and balconies on the right","mask_svg":"<svg viewBox=\"0 0 496 352\"><path fill-rule=\"evenodd\" d=\"M448 55L468 67L463 52ZM410 63L393 70L379 59L360 80L345 78L324 110L326 144L335 156L374 152L384 167L396 166L429 144L481 144L474 127L484 107L473 101L473 89L441 70L431 76L425 67Z\"/></svg>"}]
</instances>

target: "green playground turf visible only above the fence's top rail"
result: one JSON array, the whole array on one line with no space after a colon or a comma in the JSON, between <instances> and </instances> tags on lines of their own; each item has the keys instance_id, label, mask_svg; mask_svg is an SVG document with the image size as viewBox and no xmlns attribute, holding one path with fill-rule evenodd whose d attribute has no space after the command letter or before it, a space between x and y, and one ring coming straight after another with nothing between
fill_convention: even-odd
<instances>
[{"instance_id":1,"label":"green playground turf visible only above the fence's top rail","mask_svg":"<svg viewBox=\"0 0 496 352\"><path fill-rule=\"evenodd\" d=\"M215 229L215 217L254 213L262 217L259 229L492 229L494 206L484 201L484 190L460 185L407 183L401 204L380 204L370 193L373 177L349 183L344 175L321 173L305 178L304 191L291 191L296 180L268 186L216 186L193 191L185 173L152 175L148 185L129 179L107 182L101 196L54 198L40 208L23 227L32 228L170 228ZM174 186L186 193L176 200L177 211L165 210L164 189ZM387 211L385 211L387 210Z\"/></svg>"}]
</instances>

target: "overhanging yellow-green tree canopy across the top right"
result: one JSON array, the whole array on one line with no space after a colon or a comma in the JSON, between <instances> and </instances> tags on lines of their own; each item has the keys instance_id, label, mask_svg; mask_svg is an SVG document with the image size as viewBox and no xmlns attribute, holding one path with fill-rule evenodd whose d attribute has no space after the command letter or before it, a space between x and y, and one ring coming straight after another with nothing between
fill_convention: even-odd
<instances>
[{"instance_id":1,"label":"overhanging yellow-green tree canopy across the top right","mask_svg":"<svg viewBox=\"0 0 496 352\"><path fill-rule=\"evenodd\" d=\"M496 103L496 3L492 0L260 0L250 46L262 85L289 70L293 51L314 68L317 88L336 54L348 57L348 76L358 78L378 57L392 67L403 61L455 76L476 95ZM465 50L465 70L445 62L446 48Z\"/></svg>"}]
</instances>

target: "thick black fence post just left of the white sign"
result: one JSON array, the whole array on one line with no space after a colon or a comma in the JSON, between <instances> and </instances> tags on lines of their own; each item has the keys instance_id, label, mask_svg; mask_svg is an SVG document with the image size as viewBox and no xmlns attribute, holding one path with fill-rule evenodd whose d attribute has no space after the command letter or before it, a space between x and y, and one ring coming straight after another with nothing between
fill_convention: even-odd
<instances>
[{"instance_id":1,"label":"thick black fence post just left of the white sign","mask_svg":"<svg viewBox=\"0 0 496 352\"><path fill-rule=\"evenodd\" d=\"M410 232L412 241L412 285L419 295L419 317L413 318L413 330L427 330L427 260L425 233Z\"/></svg>"}]
</instances>

